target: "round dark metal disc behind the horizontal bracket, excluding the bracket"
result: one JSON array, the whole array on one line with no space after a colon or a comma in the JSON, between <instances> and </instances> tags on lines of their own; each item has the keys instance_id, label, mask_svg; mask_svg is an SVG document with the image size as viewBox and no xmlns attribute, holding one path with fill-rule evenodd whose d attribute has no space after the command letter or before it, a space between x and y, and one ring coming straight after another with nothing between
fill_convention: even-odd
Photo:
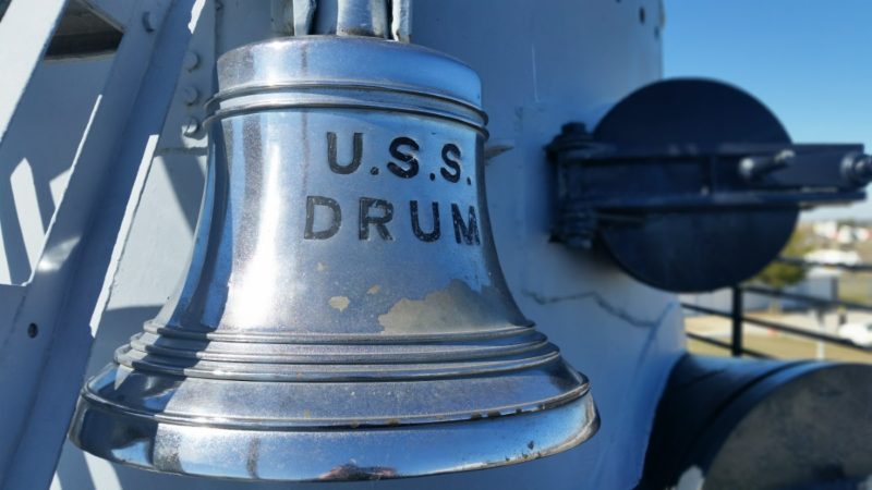
<instances>
[{"instance_id":1,"label":"round dark metal disc behind the horizontal bracket, excluding the bracket","mask_svg":"<svg viewBox=\"0 0 872 490\"><path fill-rule=\"evenodd\" d=\"M790 143L775 115L747 93L685 78L654 83L621 100L594 139L625 146ZM662 167L668 182L667 162L645 164ZM787 243L798 215L796 205L655 211L638 223L604 226L598 238L642 282L676 292L712 291L765 267Z\"/></svg>"}]
</instances>

